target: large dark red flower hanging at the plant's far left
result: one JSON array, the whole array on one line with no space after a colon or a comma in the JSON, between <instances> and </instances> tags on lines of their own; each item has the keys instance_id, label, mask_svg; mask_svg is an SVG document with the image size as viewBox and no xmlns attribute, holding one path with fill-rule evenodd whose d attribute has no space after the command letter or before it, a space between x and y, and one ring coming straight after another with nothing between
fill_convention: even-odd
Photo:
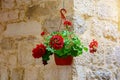
<instances>
[{"instance_id":1,"label":"large dark red flower hanging at the plant's far left","mask_svg":"<svg viewBox=\"0 0 120 80\"><path fill-rule=\"evenodd\" d=\"M40 58L45 54L46 47L43 44L37 45L36 48L32 50L32 52L33 52L32 56L34 58Z\"/></svg>"}]
</instances>

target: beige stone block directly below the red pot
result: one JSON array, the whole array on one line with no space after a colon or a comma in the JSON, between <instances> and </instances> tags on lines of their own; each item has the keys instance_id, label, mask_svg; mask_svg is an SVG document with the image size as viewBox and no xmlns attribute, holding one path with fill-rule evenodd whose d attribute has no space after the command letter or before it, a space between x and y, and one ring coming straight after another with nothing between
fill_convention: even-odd
<instances>
[{"instance_id":1,"label":"beige stone block directly below the red pot","mask_svg":"<svg viewBox=\"0 0 120 80\"><path fill-rule=\"evenodd\" d=\"M55 64L48 64L44 69L44 80L71 80L71 68L71 66L55 66Z\"/></svg>"}]
</instances>

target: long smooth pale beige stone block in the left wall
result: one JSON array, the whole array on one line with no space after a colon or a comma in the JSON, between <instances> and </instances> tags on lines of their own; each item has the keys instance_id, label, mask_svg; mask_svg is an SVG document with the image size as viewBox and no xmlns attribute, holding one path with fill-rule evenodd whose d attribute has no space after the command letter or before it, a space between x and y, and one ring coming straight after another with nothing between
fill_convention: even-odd
<instances>
[{"instance_id":1,"label":"long smooth pale beige stone block in the left wall","mask_svg":"<svg viewBox=\"0 0 120 80\"><path fill-rule=\"evenodd\" d=\"M5 36L40 35L41 24L37 21L20 22L7 25Z\"/></svg>"}]
</instances>

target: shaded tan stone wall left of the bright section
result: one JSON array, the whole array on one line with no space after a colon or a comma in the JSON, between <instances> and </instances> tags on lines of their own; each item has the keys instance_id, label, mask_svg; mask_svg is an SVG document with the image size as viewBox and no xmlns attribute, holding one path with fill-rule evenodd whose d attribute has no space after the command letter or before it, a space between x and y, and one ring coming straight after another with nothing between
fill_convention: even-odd
<instances>
[{"instance_id":1,"label":"shaded tan stone wall left of the bright section","mask_svg":"<svg viewBox=\"0 0 120 80\"><path fill-rule=\"evenodd\" d=\"M32 57L43 42L40 33L60 25L62 0L0 0L0 80L71 80L71 66L56 66L54 57L44 66ZM69 7L68 7L69 6ZM73 2L64 1L72 19Z\"/></svg>"}]
</instances>

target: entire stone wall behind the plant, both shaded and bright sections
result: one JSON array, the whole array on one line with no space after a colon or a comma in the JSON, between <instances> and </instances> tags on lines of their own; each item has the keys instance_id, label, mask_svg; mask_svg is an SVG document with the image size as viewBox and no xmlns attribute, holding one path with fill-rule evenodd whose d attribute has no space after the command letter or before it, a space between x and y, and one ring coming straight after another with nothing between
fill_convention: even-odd
<instances>
[{"instance_id":1,"label":"entire stone wall behind the plant, both shaded and bright sections","mask_svg":"<svg viewBox=\"0 0 120 80\"><path fill-rule=\"evenodd\" d=\"M72 66L47 66L31 50L44 41L41 31L56 31L60 8L67 9L74 31L95 54L74 58ZM0 0L0 80L120 80L119 0ZM119 10L120 11L120 10Z\"/></svg>"}]
</instances>

